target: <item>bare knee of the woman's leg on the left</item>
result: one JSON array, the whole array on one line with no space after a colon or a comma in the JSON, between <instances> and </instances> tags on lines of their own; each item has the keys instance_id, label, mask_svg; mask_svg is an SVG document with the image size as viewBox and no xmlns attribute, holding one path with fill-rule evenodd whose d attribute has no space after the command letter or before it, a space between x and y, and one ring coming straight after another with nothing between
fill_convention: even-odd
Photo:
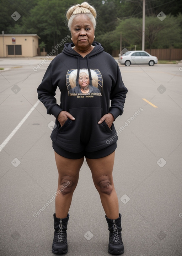
<instances>
[{"instance_id":1,"label":"bare knee of the woman's leg on the left","mask_svg":"<svg viewBox=\"0 0 182 256\"><path fill-rule=\"evenodd\" d=\"M58 185L58 191L62 195L72 193L75 189L75 181L71 177L63 177Z\"/></svg>"}]
</instances>

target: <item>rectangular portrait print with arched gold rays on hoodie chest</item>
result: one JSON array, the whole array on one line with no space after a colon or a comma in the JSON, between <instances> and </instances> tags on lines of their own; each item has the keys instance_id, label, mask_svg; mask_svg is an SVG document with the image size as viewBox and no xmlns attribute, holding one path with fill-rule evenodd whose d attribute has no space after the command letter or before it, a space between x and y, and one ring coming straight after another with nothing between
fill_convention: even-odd
<instances>
[{"instance_id":1,"label":"rectangular portrait print with arched gold rays on hoodie chest","mask_svg":"<svg viewBox=\"0 0 182 256\"><path fill-rule=\"evenodd\" d=\"M69 96L102 96L102 75L98 69L70 69L66 74Z\"/></svg>"}]
</instances>

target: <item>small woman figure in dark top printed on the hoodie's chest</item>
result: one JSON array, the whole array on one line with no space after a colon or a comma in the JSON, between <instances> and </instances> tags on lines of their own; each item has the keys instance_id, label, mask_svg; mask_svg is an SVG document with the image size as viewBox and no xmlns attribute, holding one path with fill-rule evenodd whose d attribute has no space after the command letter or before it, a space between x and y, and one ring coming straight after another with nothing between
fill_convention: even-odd
<instances>
[{"instance_id":1,"label":"small woman figure in dark top printed on the hoodie's chest","mask_svg":"<svg viewBox=\"0 0 182 256\"><path fill-rule=\"evenodd\" d=\"M79 75L78 85L71 89L69 93L90 94L91 92L98 92L99 94L101 94L98 88L90 85L89 75L87 75L86 72L81 72Z\"/></svg>"}]
</instances>

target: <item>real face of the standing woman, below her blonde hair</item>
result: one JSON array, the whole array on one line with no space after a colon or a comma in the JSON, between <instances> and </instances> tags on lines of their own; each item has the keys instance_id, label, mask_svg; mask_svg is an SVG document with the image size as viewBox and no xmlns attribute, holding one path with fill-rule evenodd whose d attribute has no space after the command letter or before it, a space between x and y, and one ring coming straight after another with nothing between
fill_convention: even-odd
<instances>
[{"instance_id":1,"label":"real face of the standing woman, below her blonde hair","mask_svg":"<svg viewBox=\"0 0 182 256\"><path fill-rule=\"evenodd\" d=\"M71 24L71 36L75 47L84 51L89 49L94 40L94 27L85 14L77 14Z\"/></svg>"}]
</instances>

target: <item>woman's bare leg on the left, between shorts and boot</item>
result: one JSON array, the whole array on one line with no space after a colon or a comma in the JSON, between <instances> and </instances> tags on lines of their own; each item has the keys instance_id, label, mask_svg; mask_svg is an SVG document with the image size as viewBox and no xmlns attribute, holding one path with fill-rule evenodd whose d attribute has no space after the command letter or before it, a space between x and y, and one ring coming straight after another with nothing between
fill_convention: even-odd
<instances>
[{"instance_id":1,"label":"woman's bare leg on the left, between shorts and boot","mask_svg":"<svg viewBox=\"0 0 182 256\"><path fill-rule=\"evenodd\" d=\"M79 179L79 171L83 164L81 159L68 159L55 152L58 169L58 191L55 199L55 215L59 219L66 218L70 209L73 192Z\"/></svg>"}]
</instances>

